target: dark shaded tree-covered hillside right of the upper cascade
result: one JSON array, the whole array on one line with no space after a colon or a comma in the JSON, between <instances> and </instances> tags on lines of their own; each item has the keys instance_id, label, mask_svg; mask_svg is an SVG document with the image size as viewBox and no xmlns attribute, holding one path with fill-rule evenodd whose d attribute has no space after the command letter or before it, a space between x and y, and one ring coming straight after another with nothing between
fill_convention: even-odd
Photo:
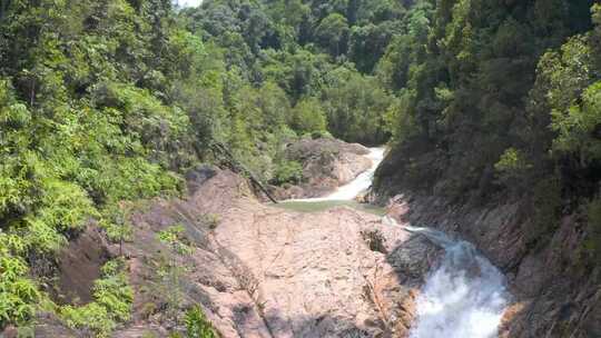
<instances>
[{"instance_id":1,"label":"dark shaded tree-covered hillside right of the upper cascade","mask_svg":"<svg viewBox=\"0 0 601 338\"><path fill-rule=\"evenodd\" d=\"M388 49L400 95L377 190L471 206L519 201L532 249L577 213L587 222L581 257L599 262L601 7L591 6L431 8L427 34L416 30Z\"/></svg>"}]
</instances>

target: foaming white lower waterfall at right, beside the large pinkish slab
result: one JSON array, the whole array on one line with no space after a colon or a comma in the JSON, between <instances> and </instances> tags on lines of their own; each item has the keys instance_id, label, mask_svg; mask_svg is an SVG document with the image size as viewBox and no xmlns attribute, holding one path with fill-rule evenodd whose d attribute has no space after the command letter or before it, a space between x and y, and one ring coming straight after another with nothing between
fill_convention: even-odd
<instances>
[{"instance_id":1,"label":"foaming white lower waterfall at right, beside the large pinkish slab","mask_svg":"<svg viewBox=\"0 0 601 338\"><path fill-rule=\"evenodd\" d=\"M410 338L493 338L509 302L503 275L472 243L445 233L406 227L445 251L417 297Z\"/></svg>"}]
</instances>

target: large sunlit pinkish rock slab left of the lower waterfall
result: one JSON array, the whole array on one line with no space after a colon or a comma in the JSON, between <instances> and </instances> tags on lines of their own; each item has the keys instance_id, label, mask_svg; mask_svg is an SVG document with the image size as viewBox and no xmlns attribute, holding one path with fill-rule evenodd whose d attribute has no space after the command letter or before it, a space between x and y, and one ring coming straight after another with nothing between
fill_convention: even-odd
<instances>
[{"instance_id":1,"label":"large sunlit pinkish rock slab left of the lower waterfall","mask_svg":"<svg viewBox=\"0 0 601 338\"><path fill-rule=\"evenodd\" d=\"M207 177L206 175L203 177ZM217 216L210 229L206 215ZM224 337L405 337L417 289L437 249L382 218L349 208L296 213L263 206L246 182L216 171L187 200L159 201L134 218L127 245L136 289L135 321L169 329L152 271L154 236L186 227L194 252L180 307L200 304Z\"/></svg>"}]
</instances>

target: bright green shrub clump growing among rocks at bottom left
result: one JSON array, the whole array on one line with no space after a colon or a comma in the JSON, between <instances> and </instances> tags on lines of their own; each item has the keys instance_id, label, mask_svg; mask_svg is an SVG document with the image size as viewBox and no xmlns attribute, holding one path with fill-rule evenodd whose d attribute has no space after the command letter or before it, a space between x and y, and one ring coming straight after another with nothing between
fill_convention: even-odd
<instances>
[{"instance_id":1,"label":"bright green shrub clump growing among rocks at bottom left","mask_svg":"<svg viewBox=\"0 0 601 338\"><path fill-rule=\"evenodd\" d=\"M111 260L102 267L102 277L95 281L93 301L81 307L65 306L65 322L96 337L110 337L119 322L131 318L134 290L128 285L124 261Z\"/></svg>"}]
</instances>

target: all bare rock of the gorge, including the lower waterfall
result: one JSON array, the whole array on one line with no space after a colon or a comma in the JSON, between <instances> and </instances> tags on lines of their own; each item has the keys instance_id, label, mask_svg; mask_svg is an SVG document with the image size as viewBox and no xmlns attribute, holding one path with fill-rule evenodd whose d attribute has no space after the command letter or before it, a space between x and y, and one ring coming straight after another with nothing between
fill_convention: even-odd
<instances>
[{"instance_id":1,"label":"all bare rock of the gorge, including the lower waterfall","mask_svg":"<svg viewBox=\"0 0 601 338\"><path fill-rule=\"evenodd\" d=\"M375 170L374 150L358 145L312 140L289 151L314 177L282 196L335 198L337 186ZM187 183L186 197L131 215L134 240L110 243L91 225L59 259L65 301L85 304L102 262L127 258L132 320L114 337L168 337L180 329L174 314L194 305L223 337L598 337L594 279L545 268L565 259L558 252L569 252L572 227L554 249L532 254L514 206L473 210L397 195L385 216L344 205L302 212L264 202L228 169L199 167ZM189 251L158 240L174 226ZM161 272L166 261L180 267L169 272L176 279ZM36 337L87 335L50 314L36 326Z\"/></svg>"}]
</instances>

